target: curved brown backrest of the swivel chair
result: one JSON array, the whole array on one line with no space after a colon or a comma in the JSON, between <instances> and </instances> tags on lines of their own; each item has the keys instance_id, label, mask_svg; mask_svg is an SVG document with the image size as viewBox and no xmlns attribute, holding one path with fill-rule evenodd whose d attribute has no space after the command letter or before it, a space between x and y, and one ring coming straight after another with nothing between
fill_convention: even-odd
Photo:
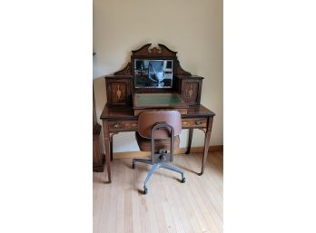
<instances>
[{"instance_id":1,"label":"curved brown backrest of the swivel chair","mask_svg":"<svg viewBox=\"0 0 316 233\"><path fill-rule=\"evenodd\" d=\"M181 114L178 111L151 111L142 112L138 117L138 133L143 137L150 139L153 125L157 122L166 122L173 126L174 136L182 131ZM170 131L166 129L154 131L155 139L170 138Z\"/></svg>"}]
</instances>

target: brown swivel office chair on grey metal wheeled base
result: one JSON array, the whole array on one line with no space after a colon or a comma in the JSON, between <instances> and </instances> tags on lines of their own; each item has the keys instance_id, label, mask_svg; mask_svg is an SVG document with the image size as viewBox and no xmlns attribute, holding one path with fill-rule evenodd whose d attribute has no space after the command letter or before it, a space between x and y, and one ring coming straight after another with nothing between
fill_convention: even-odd
<instances>
[{"instance_id":1,"label":"brown swivel office chair on grey metal wheeled base","mask_svg":"<svg viewBox=\"0 0 316 233\"><path fill-rule=\"evenodd\" d=\"M182 182L185 182L183 170L169 164L173 161L173 150L179 148L179 134L182 131L181 114L177 111L142 112L138 118L138 131L135 132L140 150L151 151L151 159L133 159L135 162L143 162L153 165L149 170L143 184L143 192L148 192L148 182L153 172L159 168L173 170L181 174Z\"/></svg>"}]
</instances>

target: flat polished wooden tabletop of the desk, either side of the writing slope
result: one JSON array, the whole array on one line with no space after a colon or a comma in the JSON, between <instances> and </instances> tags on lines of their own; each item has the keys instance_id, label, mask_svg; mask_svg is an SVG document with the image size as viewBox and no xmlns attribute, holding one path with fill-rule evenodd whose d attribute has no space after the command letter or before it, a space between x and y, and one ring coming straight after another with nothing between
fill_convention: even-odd
<instances>
[{"instance_id":1,"label":"flat polished wooden tabletop of the desk, either side of the writing slope","mask_svg":"<svg viewBox=\"0 0 316 233\"><path fill-rule=\"evenodd\" d=\"M211 110L205 108L202 104L197 106L190 106L188 108L188 113L183 114L183 118L190 117L205 117L205 116L214 116L215 113ZM122 107L109 107L107 104L104 106L104 111L102 112L100 119L107 120L122 120L138 119L138 116L133 115L133 106L122 106Z\"/></svg>"}]
</instances>

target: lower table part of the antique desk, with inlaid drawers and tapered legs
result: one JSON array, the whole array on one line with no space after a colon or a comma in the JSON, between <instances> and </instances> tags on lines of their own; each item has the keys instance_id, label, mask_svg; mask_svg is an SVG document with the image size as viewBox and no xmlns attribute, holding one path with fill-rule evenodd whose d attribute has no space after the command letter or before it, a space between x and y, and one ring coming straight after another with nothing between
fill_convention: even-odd
<instances>
[{"instance_id":1,"label":"lower table part of the antique desk, with inlaid drawers and tapered legs","mask_svg":"<svg viewBox=\"0 0 316 233\"><path fill-rule=\"evenodd\" d=\"M214 115L214 112L208 110L202 104L191 106L189 107L187 113L182 114L183 129L189 129L189 139L186 154L189 154L191 150L193 129L199 129L205 133L202 168L199 175L202 175L204 171L204 164L207 159L211 138L212 119ZM109 107L106 104L100 118L103 122L104 130L106 168L109 182L111 182L110 158L113 153L113 135L123 131L137 131L138 116L134 115L133 106Z\"/></svg>"}]
</instances>

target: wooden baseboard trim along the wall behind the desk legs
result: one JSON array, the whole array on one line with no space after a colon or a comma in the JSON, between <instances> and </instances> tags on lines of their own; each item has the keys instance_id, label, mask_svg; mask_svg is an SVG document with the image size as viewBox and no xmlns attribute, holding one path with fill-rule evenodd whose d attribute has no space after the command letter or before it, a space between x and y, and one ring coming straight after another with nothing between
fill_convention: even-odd
<instances>
[{"instance_id":1,"label":"wooden baseboard trim along the wall behind the desk legs","mask_svg":"<svg viewBox=\"0 0 316 233\"><path fill-rule=\"evenodd\" d=\"M210 146L209 152L214 151L222 151L222 145ZM192 147L191 153L202 153L203 147ZM174 150L174 154L184 154L186 152L186 148L179 148ZM144 151L126 151L126 152L114 152L113 158L114 159L133 159L133 158L140 158L140 157L148 157L150 152Z\"/></svg>"}]
</instances>

